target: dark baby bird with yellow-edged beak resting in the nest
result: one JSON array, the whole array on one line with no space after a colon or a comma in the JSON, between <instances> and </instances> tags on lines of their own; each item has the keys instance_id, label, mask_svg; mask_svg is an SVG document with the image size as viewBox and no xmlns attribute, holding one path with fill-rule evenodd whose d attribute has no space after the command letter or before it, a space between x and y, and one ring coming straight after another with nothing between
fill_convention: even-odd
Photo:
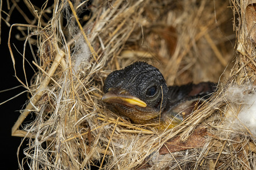
<instances>
[{"instance_id":1,"label":"dark baby bird with yellow-edged beak resting in the nest","mask_svg":"<svg viewBox=\"0 0 256 170\"><path fill-rule=\"evenodd\" d=\"M163 129L180 124L215 90L216 84L212 82L167 87L156 67L135 62L109 74L102 100L113 112L135 124L157 125Z\"/></svg>"}]
</instances>

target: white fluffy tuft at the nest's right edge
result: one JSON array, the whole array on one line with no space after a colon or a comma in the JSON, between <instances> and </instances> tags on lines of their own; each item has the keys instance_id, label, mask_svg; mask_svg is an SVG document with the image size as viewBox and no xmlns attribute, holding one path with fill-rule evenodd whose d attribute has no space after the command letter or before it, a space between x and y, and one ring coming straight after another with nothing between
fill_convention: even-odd
<instances>
[{"instance_id":1,"label":"white fluffy tuft at the nest's right edge","mask_svg":"<svg viewBox=\"0 0 256 170\"><path fill-rule=\"evenodd\" d=\"M229 126L236 130L249 130L256 137L256 87L230 87L225 99L230 107L226 114Z\"/></svg>"}]
</instances>

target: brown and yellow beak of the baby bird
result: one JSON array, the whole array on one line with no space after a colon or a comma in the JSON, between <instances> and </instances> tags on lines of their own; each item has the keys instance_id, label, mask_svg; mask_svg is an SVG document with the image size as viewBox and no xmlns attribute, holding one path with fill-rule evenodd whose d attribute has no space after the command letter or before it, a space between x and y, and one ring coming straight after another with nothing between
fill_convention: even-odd
<instances>
[{"instance_id":1,"label":"brown and yellow beak of the baby bird","mask_svg":"<svg viewBox=\"0 0 256 170\"><path fill-rule=\"evenodd\" d=\"M110 88L109 92L102 96L102 100L106 103L119 103L125 105L138 105L139 107L147 107L147 104L144 103L138 97L134 97L129 94L126 90L122 88Z\"/></svg>"}]
</instances>

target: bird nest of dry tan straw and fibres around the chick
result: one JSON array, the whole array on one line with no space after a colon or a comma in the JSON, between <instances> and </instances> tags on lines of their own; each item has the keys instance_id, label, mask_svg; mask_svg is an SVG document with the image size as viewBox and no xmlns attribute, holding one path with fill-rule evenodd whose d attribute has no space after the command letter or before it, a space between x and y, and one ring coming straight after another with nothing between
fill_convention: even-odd
<instances>
[{"instance_id":1,"label":"bird nest of dry tan straw and fibres around the chick","mask_svg":"<svg viewBox=\"0 0 256 170\"><path fill-rule=\"evenodd\" d=\"M38 48L31 84L20 80L31 98L12 129L29 139L20 169L256 168L255 2L48 3L27 3L36 25L11 27L27 28L24 46ZM135 61L158 67L168 86L218 90L173 129L131 124L101 96L106 76Z\"/></svg>"}]
</instances>

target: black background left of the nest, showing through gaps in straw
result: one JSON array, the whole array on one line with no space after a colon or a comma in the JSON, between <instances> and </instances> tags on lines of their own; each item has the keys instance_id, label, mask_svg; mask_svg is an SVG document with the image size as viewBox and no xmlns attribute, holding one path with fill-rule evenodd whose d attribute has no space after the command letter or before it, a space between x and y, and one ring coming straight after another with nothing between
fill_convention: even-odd
<instances>
[{"instance_id":1,"label":"black background left of the nest, showing through gaps in straw","mask_svg":"<svg viewBox=\"0 0 256 170\"><path fill-rule=\"evenodd\" d=\"M10 3L10 8L7 5L7 2ZM24 16L17 10L15 7L13 12L11 12L10 19L7 19L7 14L9 13L11 7L13 6L13 1L2 1L2 20L1 20L1 44L0 44L0 56L1 56L1 62L0 62L0 78L2 82L0 83L0 103L3 103L6 100L9 100L11 97L14 97L20 92L26 91L26 88L24 87L18 87L13 90L4 91L10 88L14 88L17 86L20 86L21 83L15 78L15 72L14 72L14 66L13 61L11 59L9 47L8 47L8 38L9 38L9 32L10 32L10 26L13 24L28 24L28 22L24 19ZM20 10L26 14L27 18L31 21L34 20L34 15L31 14L31 11L28 9L28 7L24 4L23 1L17 1L15 0L16 5ZM36 8L36 10L40 11L40 8L43 6L45 1L31 1L34 6L39 7ZM50 7L52 10L53 0L49 0L47 7ZM90 4L91 1L89 1L87 4ZM3 12L4 11L4 12ZM6 14L6 13L7 14ZM90 11L89 8L85 8L83 13L80 15L80 18L82 18L82 15L89 15ZM39 12L38 12L39 14ZM44 22L48 22L49 18L51 18L51 13L47 13L47 18L43 18ZM9 24L6 24L4 20L7 19L7 22ZM65 22L65 20L63 21ZM82 20L80 20L82 23ZM32 25L37 25L37 21L33 23ZM26 28L26 27L22 27ZM24 48L24 42L27 35L27 29L23 30L25 35L23 35L22 32L18 30L17 27L13 27L11 31L11 49L13 51L13 55L15 58L15 69L16 69L16 75L20 80L22 80L23 83L26 84L26 79L23 72L23 48ZM30 31L31 32L31 31ZM25 36L25 37L24 37ZM16 37L21 37L21 39L17 39ZM32 36L32 38L36 39L36 37ZM34 54L36 55L36 52L38 50L37 46L32 46L32 50L34 51ZM27 43L26 45L26 59L29 61L32 65L32 61L34 60L30 45ZM38 56L36 56L38 57ZM32 76L34 75L34 70L37 71L36 67L34 67L34 70L31 68L30 65L28 65L28 62L25 61L25 69L26 69L26 77L28 86L30 86L30 80ZM28 147L28 140L25 139L22 145L20 143L22 142L22 137L12 137L11 136L11 128L15 124L15 122L18 120L18 117L20 116L20 110L26 108L26 103L28 102L28 92L24 92L22 95L19 95L18 97L15 97L15 99L12 99L10 101L7 101L4 104L0 105L0 112L1 112L1 167L4 167L4 169L19 169L18 165L18 159L20 164L22 164L22 159L25 157L23 154L24 148ZM31 122L33 120L33 116L29 114L27 118L23 121L25 124L27 122ZM24 125L24 124L23 124ZM22 129L22 128L20 128ZM19 149L19 156L17 156L17 150ZM29 169L27 163L23 163L24 169Z\"/></svg>"}]
</instances>

